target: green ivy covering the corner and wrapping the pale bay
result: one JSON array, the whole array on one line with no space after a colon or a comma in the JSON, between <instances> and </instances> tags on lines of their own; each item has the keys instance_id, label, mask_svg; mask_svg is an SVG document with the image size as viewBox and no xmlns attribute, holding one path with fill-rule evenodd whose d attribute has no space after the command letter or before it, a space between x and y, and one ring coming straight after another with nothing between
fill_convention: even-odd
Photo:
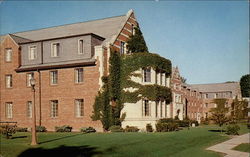
<instances>
[{"instance_id":1,"label":"green ivy covering the corner and wrapping the pale bay","mask_svg":"<svg viewBox=\"0 0 250 157\"><path fill-rule=\"evenodd\" d=\"M121 110L124 103L136 103L140 99L151 101L172 101L171 90L168 87L156 84L142 85L131 80L132 76L142 77L134 73L142 68L152 67L156 71L171 74L171 62L157 54L134 53L121 56L116 51L111 51L109 76L103 78L103 88L96 97L94 104L93 120L101 120L105 130L112 125L121 125L124 115ZM134 89L133 92L126 89Z\"/></svg>"}]
</instances>

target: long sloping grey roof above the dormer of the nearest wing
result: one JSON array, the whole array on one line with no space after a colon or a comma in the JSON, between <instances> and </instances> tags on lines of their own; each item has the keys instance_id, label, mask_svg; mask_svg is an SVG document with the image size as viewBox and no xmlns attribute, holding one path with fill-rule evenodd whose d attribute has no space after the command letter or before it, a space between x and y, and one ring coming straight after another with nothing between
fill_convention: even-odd
<instances>
[{"instance_id":1,"label":"long sloping grey roof above the dormer of the nearest wing","mask_svg":"<svg viewBox=\"0 0 250 157\"><path fill-rule=\"evenodd\" d=\"M109 42L124 26L127 20L126 15L67 24L62 26L18 32L13 35L33 41L45 40L49 38L59 38L63 36L74 36L78 34L93 33L105 38L105 42Z\"/></svg>"}]
</instances>

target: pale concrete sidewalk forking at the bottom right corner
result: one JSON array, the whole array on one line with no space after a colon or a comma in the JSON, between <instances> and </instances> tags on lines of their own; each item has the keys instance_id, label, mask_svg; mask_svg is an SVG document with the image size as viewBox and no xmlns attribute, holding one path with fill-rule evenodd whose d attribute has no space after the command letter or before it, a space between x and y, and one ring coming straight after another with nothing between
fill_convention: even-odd
<instances>
[{"instance_id":1,"label":"pale concrete sidewalk forking at the bottom right corner","mask_svg":"<svg viewBox=\"0 0 250 157\"><path fill-rule=\"evenodd\" d=\"M232 148L240 145L241 143L250 143L249 137L249 133L241 136L235 136L231 140L216 144L212 147L207 148L207 150L227 154L225 157L250 157L250 154L247 152L232 150Z\"/></svg>"}]
</instances>

